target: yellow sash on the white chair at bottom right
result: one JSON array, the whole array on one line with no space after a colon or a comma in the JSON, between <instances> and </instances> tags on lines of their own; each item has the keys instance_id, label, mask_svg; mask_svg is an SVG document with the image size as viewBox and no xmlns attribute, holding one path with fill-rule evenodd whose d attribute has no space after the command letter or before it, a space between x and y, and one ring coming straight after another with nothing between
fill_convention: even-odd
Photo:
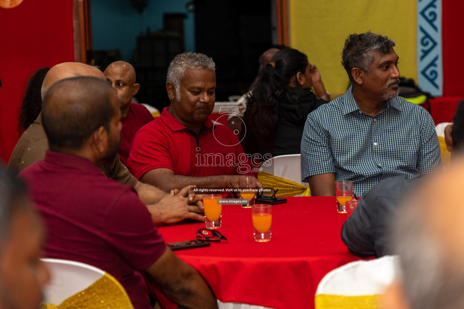
<instances>
[{"instance_id":1,"label":"yellow sash on the white chair at bottom right","mask_svg":"<svg viewBox=\"0 0 464 309\"><path fill-rule=\"evenodd\" d=\"M344 296L317 294L314 298L316 309L378 309L382 295Z\"/></svg>"}]
</instances>

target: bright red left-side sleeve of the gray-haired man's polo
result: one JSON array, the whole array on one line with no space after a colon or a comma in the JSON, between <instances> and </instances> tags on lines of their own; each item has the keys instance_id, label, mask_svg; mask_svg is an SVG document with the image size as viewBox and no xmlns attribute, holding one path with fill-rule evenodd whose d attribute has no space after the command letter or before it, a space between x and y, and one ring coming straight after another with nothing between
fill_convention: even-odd
<instances>
[{"instance_id":1,"label":"bright red left-side sleeve of the gray-haired man's polo","mask_svg":"<svg viewBox=\"0 0 464 309\"><path fill-rule=\"evenodd\" d=\"M174 171L165 136L149 130L140 130L135 135L127 160L135 178L140 179L149 170L165 168Z\"/></svg>"}]
</instances>

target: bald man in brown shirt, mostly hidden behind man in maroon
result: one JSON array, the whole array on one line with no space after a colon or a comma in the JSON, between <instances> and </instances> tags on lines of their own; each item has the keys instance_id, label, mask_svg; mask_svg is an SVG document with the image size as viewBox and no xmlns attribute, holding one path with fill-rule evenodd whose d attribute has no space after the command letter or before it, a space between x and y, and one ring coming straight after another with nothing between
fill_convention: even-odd
<instances>
[{"instance_id":1,"label":"bald man in brown shirt, mostly hidden behind man in maroon","mask_svg":"<svg viewBox=\"0 0 464 309\"><path fill-rule=\"evenodd\" d=\"M74 62L60 63L52 67L45 76L41 91L42 98L55 82L76 76L93 76L106 80L102 71L90 65ZM29 165L45 158L47 149L48 139L42 126L42 113L40 113L19 139L7 168L18 174ZM148 205L155 223L174 223L183 219L205 221L203 216L197 214L203 210L203 204L198 201L201 196L189 195L187 201L187 198L183 196L177 194L171 196L154 186L141 183L130 174L129 169L121 163L118 156L103 163L99 168L107 177L134 187L140 200ZM188 203L196 203L196 205Z\"/></svg>"}]
</instances>

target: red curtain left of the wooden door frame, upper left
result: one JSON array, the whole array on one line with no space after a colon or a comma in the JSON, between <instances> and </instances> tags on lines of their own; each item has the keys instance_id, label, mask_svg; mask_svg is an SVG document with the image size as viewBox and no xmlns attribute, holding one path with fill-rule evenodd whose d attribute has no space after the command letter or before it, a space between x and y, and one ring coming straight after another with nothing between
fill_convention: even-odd
<instances>
[{"instance_id":1,"label":"red curtain left of the wooden door frame, upper left","mask_svg":"<svg viewBox=\"0 0 464 309\"><path fill-rule=\"evenodd\" d=\"M29 75L74 61L72 0L24 0L0 8L0 162L19 139L18 108Z\"/></svg>"}]
</instances>

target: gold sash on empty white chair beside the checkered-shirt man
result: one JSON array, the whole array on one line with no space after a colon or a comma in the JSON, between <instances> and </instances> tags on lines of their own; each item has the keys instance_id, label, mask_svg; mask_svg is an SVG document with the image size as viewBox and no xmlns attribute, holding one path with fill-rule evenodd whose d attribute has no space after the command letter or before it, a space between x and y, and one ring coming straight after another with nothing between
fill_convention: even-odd
<instances>
[{"instance_id":1,"label":"gold sash on empty white chair beside the checkered-shirt man","mask_svg":"<svg viewBox=\"0 0 464 309\"><path fill-rule=\"evenodd\" d=\"M264 188L279 189L276 194L277 197L295 196L299 194L302 194L302 196L311 196L309 187L264 171L258 173L258 180L263 184Z\"/></svg>"}]
</instances>

